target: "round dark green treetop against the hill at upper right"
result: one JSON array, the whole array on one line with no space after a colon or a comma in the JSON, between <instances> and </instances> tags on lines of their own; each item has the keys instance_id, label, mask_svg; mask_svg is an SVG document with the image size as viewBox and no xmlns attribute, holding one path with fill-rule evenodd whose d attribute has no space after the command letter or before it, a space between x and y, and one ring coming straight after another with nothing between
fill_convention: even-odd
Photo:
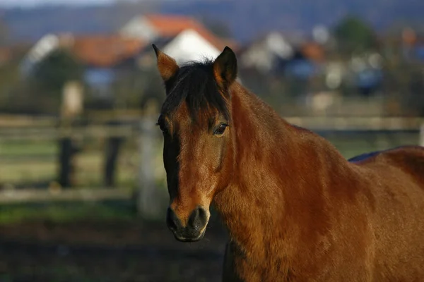
<instances>
[{"instance_id":1,"label":"round dark green treetop against the hill at upper right","mask_svg":"<svg viewBox=\"0 0 424 282\"><path fill-rule=\"evenodd\" d=\"M360 18L347 16L334 29L339 51L343 54L362 53L377 48L377 35Z\"/></svg>"}]
</instances>

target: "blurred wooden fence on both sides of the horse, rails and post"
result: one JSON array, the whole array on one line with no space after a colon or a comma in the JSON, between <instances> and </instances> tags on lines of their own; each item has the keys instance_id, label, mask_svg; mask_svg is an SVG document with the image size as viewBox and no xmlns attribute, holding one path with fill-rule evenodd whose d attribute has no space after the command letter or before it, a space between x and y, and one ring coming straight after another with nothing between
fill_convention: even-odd
<instances>
[{"instance_id":1,"label":"blurred wooden fence on both sides of the horse, rails and post","mask_svg":"<svg viewBox=\"0 0 424 282\"><path fill-rule=\"evenodd\" d=\"M88 125L60 128L54 119L25 120L8 123L0 118L0 140L58 140L63 137L137 137L139 142L139 180L136 199L141 214L154 216L162 208L167 195L159 195L153 177L152 147L158 142L155 116L145 116L122 125ZM358 117L288 117L288 122L310 130L331 131L420 131L420 145L424 146L424 118L358 118ZM13 124L13 126L11 126ZM105 200L131 199L128 189L78 189L78 190L1 190L0 203L55 201L55 200ZM160 203L158 202L160 201Z\"/></svg>"}]
</instances>

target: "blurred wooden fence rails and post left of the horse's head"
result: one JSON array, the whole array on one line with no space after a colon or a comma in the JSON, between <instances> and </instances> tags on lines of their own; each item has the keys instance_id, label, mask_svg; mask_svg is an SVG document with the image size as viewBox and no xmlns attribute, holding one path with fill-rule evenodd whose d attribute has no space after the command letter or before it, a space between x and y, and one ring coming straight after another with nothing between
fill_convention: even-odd
<instances>
[{"instance_id":1,"label":"blurred wooden fence rails and post left of the horse's head","mask_svg":"<svg viewBox=\"0 0 424 282\"><path fill-rule=\"evenodd\" d=\"M140 214L145 217L155 216L163 204L163 191L156 189L153 173L155 154L152 148L158 144L160 132L155 130L155 116L143 116L129 122L120 122L119 125L76 125L57 126L54 119L43 118L31 121L21 118L20 122L8 123L0 118L0 141L52 141L52 140L81 140L91 138L95 140L111 140L115 137L137 140L139 152L139 180L138 190L129 188L95 188L73 189L3 189L0 190L0 204L16 202L54 202L58 200L136 200ZM13 124L13 125L11 125ZM59 152L63 154L63 152ZM109 158L110 154L105 154ZM107 160L106 160L107 161ZM71 161L72 162L72 161ZM1 182L1 181L0 181ZM159 194L159 195L158 195Z\"/></svg>"}]
</instances>

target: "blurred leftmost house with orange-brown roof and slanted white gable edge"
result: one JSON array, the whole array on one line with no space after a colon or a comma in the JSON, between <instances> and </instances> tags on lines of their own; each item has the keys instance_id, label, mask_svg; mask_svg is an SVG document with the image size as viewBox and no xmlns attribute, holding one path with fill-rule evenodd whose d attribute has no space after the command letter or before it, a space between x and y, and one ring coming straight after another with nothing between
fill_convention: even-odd
<instances>
[{"instance_id":1,"label":"blurred leftmost house with orange-brown roof and slanted white gable edge","mask_svg":"<svg viewBox=\"0 0 424 282\"><path fill-rule=\"evenodd\" d=\"M136 56L144 45L141 39L120 35L49 34L30 49L21 63L21 71L30 75L49 54L64 49L84 67L83 82L95 92L107 95L119 75L136 68Z\"/></svg>"}]
</instances>

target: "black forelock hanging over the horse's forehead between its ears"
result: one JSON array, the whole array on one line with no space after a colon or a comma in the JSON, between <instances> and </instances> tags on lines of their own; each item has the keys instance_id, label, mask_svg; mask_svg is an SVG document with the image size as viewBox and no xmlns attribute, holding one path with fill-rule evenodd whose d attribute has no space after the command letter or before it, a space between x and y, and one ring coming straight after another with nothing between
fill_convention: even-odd
<instances>
[{"instance_id":1,"label":"black forelock hanging over the horse's forehead between its ears","mask_svg":"<svg viewBox=\"0 0 424 282\"><path fill-rule=\"evenodd\" d=\"M194 121L200 111L207 114L211 109L218 110L227 119L230 116L228 106L213 76L213 61L187 63L179 68L174 77L165 82L165 89L167 97L162 106L162 114L174 113L185 101Z\"/></svg>"}]
</instances>

